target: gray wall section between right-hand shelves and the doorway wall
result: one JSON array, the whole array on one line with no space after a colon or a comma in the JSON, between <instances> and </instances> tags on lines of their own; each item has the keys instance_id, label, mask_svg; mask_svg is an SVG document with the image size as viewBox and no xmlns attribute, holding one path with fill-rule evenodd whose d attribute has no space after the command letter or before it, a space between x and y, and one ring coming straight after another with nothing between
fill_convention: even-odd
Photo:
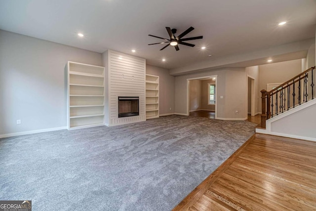
<instances>
[{"instance_id":1,"label":"gray wall section between right-hand shelves and the doorway wall","mask_svg":"<svg viewBox=\"0 0 316 211\"><path fill-rule=\"evenodd\" d=\"M146 74L159 76L159 115L174 113L174 76L167 69L148 64Z\"/></svg>"}]
</instances>

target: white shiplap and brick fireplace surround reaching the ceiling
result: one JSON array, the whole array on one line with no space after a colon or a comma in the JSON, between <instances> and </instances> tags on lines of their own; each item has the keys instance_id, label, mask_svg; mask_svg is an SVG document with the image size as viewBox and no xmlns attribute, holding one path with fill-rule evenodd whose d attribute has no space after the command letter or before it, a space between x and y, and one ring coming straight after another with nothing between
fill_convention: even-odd
<instances>
[{"instance_id":1,"label":"white shiplap and brick fireplace surround reaching the ceiling","mask_svg":"<svg viewBox=\"0 0 316 211\"><path fill-rule=\"evenodd\" d=\"M146 60L107 50L105 66L105 125L117 126L146 121ZM118 118L118 97L139 97L139 116Z\"/></svg>"}]
</instances>

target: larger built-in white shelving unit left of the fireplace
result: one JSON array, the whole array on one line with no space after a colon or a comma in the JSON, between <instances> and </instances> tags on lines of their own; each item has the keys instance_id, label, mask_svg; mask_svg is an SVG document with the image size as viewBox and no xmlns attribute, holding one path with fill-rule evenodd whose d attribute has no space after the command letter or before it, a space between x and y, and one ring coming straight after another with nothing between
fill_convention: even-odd
<instances>
[{"instance_id":1,"label":"larger built-in white shelving unit left of the fireplace","mask_svg":"<svg viewBox=\"0 0 316 211\"><path fill-rule=\"evenodd\" d=\"M68 129L104 125L104 67L67 63Z\"/></svg>"}]
</instances>

